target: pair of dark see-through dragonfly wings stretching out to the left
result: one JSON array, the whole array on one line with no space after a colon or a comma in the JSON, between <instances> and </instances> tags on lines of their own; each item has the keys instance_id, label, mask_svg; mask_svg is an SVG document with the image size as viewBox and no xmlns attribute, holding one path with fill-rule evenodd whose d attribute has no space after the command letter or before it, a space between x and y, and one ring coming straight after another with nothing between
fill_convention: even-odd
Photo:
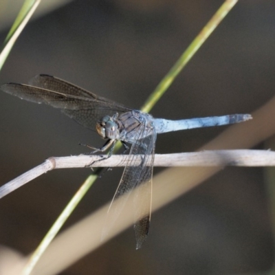
<instances>
[{"instance_id":1,"label":"pair of dark see-through dragonfly wings stretching out to the left","mask_svg":"<svg viewBox=\"0 0 275 275\"><path fill-rule=\"evenodd\" d=\"M92 130L104 115L131 111L122 104L97 96L54 76L35 76L30 83L32 85L9 83L2 85L1 89L30 102L45 103L62 109L70 118Z\"/></svg>"}]
</instances>

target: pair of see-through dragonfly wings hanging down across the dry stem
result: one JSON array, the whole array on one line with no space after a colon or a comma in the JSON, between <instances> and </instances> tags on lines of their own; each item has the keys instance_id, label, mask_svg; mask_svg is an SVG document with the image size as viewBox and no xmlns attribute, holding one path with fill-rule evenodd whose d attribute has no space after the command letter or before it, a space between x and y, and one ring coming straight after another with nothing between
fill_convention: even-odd
<instances>
[{"instance_id":1,"label":"pair of see-through dragonfly wings hanging down across the dry stem","mask_svg":"<svg viewBox=\"0 0 275 275\"><path fill-rule=\"evenodd\" d=\"M156 133L153 127L150 128L141 124L137 135L140 137L144 135L147 136L138 139L137 142L131 146L129 159L124 168L122 179L109 207L107 225L104 227L103 238L108 234L116 219L118 219L133 189L140 187L138 191L135 190L135 199L133 201L135 208L134 230L137 242L136 248L138 249L141 248L142 243L146 239L151 219L152 175ZM143 156L142 163L139 166L132 166L135 159L140 157L139 155ZM118 198L120 198L120 201L113 203Z\"/></svg>"}]
</instances>

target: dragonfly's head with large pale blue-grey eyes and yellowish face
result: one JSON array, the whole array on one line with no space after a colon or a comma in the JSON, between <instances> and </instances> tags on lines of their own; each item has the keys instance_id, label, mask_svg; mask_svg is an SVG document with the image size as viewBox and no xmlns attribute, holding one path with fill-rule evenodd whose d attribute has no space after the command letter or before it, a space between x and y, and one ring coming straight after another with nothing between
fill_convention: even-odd
<instances>
[{"instance_id":1,"label":"dragonfly's head with large pale blue-grey eyes and yellowish face","mask_svg":"<svg viewBox=\"0 0 275 275\"><path fill-rule=\"evenodd\" d=\"M113 121L113 117L105 115L98 123L96 123L96 131L98 135L104 139L117 140L120 137L118 125Z\"/></svg>"}]
</instances>

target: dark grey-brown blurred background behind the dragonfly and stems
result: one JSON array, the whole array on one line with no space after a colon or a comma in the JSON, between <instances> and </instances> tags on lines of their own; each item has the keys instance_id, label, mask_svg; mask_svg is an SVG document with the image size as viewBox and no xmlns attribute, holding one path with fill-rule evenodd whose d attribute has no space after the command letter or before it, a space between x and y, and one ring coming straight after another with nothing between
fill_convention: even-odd
<instances>
[{"instance_id":1,"label":"dark grey-brown blurred background behind the dragonfly and stems","mask_svg":"<svg viewBox=\"0 0 275 275\"><path fill-rule=\"evenodd\" d=\"M0 41L22 2L0 1ZM42 1L6 61L0 83L28 83L36 74L51 74L135 109L223 3L52 2ZM270 100L275 89L274 10L272 0L239 1L152 115L181 119L250 113ZM79 142L102 145L96 133L57 109L3 92L0 129L1 185L47 157L86 153ZM195 151L224 129L158 135L156 153ZM1 199L1 245L24 255L32 252L89 173L87 168L54 170ZM154 212L141 250L135 250L129 228L61 274L264 273L274 264L265 173L263 168L225 168ZM113 168L98 179L65 228L107 203L121 175L122 168Z\"/></svg>"}]
</instances>

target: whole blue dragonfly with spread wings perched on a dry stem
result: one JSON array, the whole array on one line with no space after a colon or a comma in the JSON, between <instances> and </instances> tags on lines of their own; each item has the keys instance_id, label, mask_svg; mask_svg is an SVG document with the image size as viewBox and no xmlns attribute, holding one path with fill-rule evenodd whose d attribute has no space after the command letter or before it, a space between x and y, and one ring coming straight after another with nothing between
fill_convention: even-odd
<instances>
[{"instance_id":1,"label":"whole blue dragonfly with spread wings perched on a dry stem","mask_svg":"<svg viewBox=\"0 0 275 275\"><path fill-rule=\"evenodd\" d=\"M110 225L115 223L131 192L137 187L139 187L138 190L142 190L137 191L133 201L136 249L142 247L142 243L148 235L151 221L152 176L157 134L233 124L252 118L249 114L185 120L153 118L148 113L131 109L65 80L46 74L34 76L28 85L8 83L1 85L1 89L12 96L30 102L49 104L54 108L61 109L69 118L73 118L79 124L96 131L106 142L101 148L94 148L94 152L107 151L109 148L108 157L111 157L118 140L125 146L126 144L131 145L122 178L108 210L107 219L109 219ZM134 166L134 162L140 155L142 155L140 164ZM113 203L118 198L120 198L119 203Z\"/></svg>"}]
</instances>

